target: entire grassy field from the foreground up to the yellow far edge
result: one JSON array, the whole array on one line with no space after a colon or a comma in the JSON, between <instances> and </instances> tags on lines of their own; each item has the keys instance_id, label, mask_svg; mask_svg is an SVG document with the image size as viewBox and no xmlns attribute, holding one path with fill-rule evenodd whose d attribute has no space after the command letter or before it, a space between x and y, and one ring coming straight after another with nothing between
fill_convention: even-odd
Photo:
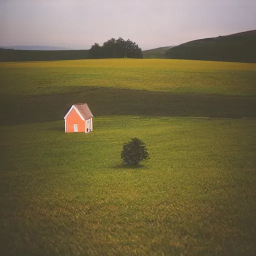
<instances>
[{"instance_id":1,"label":"entire grassy field from the foreground up to the yellow far edge","mask_svg":"<svg viewBox=\"0 0 256 256\"><path fill-rule=\"evenodd\" d=\"M254 255L255 69L0 63L0 255ZM93 132L64 133L75 102ZM120 159L134 136L139 168Z\"/></svg>"}]
</instances>

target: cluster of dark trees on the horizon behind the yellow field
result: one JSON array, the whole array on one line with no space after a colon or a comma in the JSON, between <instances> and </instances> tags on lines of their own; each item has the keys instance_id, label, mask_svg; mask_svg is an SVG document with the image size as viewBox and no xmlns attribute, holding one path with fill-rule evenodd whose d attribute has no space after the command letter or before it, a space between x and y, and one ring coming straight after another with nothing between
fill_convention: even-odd
<instances>
[{"instance_id":1,"label":"cluster of dark trees on the horizon behind the yellow field","mask_svg":"<svg viewBox=\"0 0 256 256\"><path fill-rule=\"evenodd\" d=\"M100 46L97 42L89 49L89 58L143 58L141 48L130 39L110 38Z\"/></svg>"}]
</instances>

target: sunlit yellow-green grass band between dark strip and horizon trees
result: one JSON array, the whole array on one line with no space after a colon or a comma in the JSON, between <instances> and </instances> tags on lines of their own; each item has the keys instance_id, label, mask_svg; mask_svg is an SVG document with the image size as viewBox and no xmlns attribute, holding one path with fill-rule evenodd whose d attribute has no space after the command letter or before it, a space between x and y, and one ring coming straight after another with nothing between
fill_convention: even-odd
<instances>
[{"instance_id":1,"label":"sunlit yellow-green grass band between dark strip and horizon trees","mask_svg":"<svg viewBox=\"0 0 256 256\"><path fill-rule=\"evenodd\" d=\"M255 63L172 59L1 62L0 93L71 92L76 86L255 95Z\"/></svg>"}]
</instances>

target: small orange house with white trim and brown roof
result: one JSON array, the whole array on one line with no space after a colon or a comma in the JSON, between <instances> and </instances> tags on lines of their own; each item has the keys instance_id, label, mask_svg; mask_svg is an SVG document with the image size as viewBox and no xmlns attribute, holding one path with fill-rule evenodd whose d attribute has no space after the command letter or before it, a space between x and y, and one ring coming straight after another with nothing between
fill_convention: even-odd
<instances>
[{"instance_id":1,"label":"small orange house with white trim and brown roof","mask_svg":"<svg viewBox=\"0 0 256 256\"><path fill-rule=\"evenodd\" d=\"M73 104L64 116L65 132L92 131L92 113L86 103Z\"/></svg>"}]
</instances>

